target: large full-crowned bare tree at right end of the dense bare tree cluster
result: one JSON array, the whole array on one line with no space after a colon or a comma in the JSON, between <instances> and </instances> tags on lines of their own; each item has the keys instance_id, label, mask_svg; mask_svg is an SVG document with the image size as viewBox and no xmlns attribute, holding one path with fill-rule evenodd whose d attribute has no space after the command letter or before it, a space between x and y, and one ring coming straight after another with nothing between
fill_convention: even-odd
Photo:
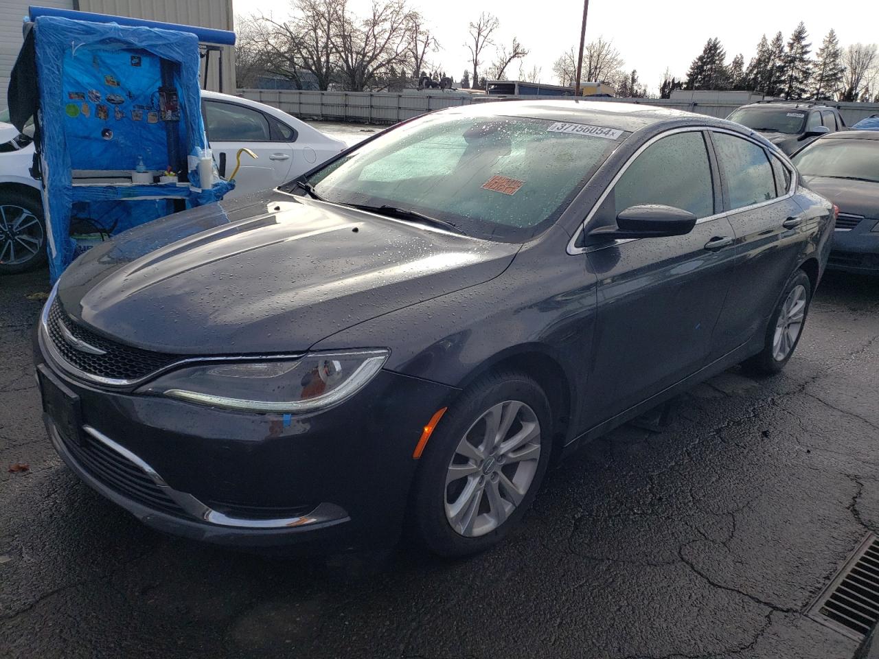
<instances>
[{"instance_id":1,"label":"large full-crowned bare tree at right end of the dense bare tree cluster","mask_svg":"<svg viewBox=\"0 0 879 659\"><path fill-rule=\"evenodd\" d=\"M340 11L333 34L339 76L348 91L385 89L403 71L410 50L410 11L403 0L379 4L360 19L337 0Z\"/></svg>"}]
</instances>

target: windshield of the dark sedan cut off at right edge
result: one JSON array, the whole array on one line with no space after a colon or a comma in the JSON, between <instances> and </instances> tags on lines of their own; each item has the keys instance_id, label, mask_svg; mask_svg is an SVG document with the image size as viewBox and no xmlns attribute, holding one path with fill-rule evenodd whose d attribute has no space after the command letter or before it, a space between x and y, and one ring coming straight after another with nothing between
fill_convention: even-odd
<instances>
[{"instance_id":1,"label":"windshield of the dark sedan cut off at right edge","mask_svg":"<svg viewBox=\"0 0 879 659\"><path fill-rule=\"evenodd\" d=\"M879 183L879 141L817 140L793 158L806 176L861 178Z\"/></svg>"}]
</instances>

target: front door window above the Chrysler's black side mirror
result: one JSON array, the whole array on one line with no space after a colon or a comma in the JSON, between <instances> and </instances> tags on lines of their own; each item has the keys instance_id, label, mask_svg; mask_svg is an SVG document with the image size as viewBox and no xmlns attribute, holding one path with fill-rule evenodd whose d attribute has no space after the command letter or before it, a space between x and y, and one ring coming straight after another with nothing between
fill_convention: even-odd
<instances>
[{"instance_id":1,"label":"front door window above the Chrysler's black side mirror","mask_svg":"<svg viewBox=\"0 0 879 659\"><path fill-rule=\"evenodd\" d=\"M697 218L714 214L714 188L701 132L677 133L654 142L622 175L602 206L613 204L614 218L628 206L665 204ZM610 208L602 208L607 217ZM610 218L607 218L608 220Z\"/></svg>"}]
</instances>

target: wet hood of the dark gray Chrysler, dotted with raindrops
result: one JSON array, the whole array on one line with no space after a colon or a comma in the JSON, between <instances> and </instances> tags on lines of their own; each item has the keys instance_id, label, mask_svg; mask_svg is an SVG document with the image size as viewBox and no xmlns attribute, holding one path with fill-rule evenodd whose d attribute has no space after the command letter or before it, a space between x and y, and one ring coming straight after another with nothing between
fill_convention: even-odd
<instances>
[{"instance_id":1,"label":"wet hood of the dark gray Chrysler, dotted with raindrops","mask_svg":"<svg viewBox=\"0 0 879 659\"><path fill-rule=\"evenodd\" d=\"M117 235L76 259L57 294L76 322L146 350L304 351L493 279L518 250L275 191Z\"/></svg>"}]
</instances>

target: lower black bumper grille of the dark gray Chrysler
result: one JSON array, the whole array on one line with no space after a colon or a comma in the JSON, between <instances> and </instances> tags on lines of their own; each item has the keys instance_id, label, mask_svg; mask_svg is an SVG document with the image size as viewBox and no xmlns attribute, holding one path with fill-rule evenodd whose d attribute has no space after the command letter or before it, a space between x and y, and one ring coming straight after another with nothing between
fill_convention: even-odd
<instances>
[{"instance_id":1,"label":"lower black bumper grille of the dark gray Chrysler","mask_svg":"<svg viewBox=\"0 0 879 659\"><path fill-rule=\"evenodd\" d=\"M61 440L79 466L106 487L152 510L186 517L185 511L159 489L141 467L112 448L91 437L85 445L65 437Z\"/></svg>"}]
</instances>

